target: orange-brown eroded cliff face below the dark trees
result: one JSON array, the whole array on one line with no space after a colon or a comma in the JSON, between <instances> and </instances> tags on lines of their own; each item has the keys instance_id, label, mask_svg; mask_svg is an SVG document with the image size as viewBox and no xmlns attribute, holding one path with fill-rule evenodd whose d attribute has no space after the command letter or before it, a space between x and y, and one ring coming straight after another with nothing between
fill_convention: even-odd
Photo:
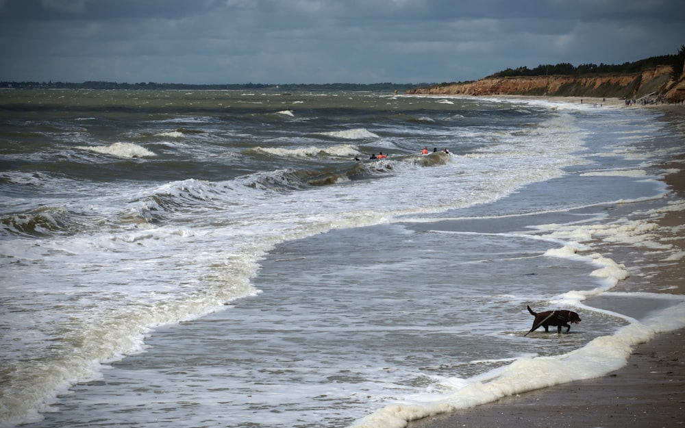
<instances>
[{"instance_id":1,"label":"orange-brown eroded cliff face below the dark trees","mask_svg":"<svg viewBox=\"0 0 685 428\"><path fill-rule=\"evenodd\" d=\"M411 94L429 95L554 95L574 97L641 97L664 90L671 67L642 73L574 77L570 75L486 77L477 81L417 88Z\"/></svg>"}]
</instances>

